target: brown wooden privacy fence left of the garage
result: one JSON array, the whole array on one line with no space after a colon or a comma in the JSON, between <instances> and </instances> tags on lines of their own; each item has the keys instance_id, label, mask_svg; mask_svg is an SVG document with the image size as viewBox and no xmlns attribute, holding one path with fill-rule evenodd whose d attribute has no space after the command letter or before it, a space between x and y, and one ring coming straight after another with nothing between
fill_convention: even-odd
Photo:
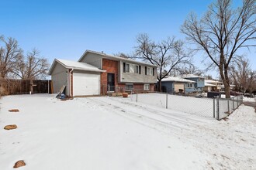
<instances>
[{"instance_id":1,"label":"brown wooden privacy fence left of the garage","mask_svg":"<svg viewBox=\"0 0 256 170\"><path fill-rule=\"evenodd\" d=\"M50 80L0 80L0 95L51 93Z\"/></svg>"}]
</instances>

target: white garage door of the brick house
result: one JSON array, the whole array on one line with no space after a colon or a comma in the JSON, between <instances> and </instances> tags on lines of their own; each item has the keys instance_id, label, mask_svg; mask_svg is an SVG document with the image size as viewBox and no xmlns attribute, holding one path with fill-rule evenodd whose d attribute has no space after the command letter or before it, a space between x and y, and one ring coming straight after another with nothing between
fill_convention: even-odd
<instances>
[{"instance_id":1,"label":"white garage door of the brick house","mask_svg":"<svg viewBox=\"0 0 256 170\"><path fill-rule=\"evenodd\" d=\"M73 96L98 94L99 74L73 73Z\"/></svg>"}]
</instances>

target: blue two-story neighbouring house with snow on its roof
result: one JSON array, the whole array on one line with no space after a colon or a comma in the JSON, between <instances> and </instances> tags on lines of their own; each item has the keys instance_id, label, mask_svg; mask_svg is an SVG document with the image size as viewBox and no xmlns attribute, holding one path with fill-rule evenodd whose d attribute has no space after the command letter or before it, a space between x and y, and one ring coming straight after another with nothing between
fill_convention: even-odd
<instances>
[{"instance_id":1,"label":"blue two-story neighbouring house with snow on its roof","mask_svg":"<svg viewBox=\"0 0 256 170\"><path fill-rule=\"evenodd\" d=\"M205 78L203 76L196 76L194 74L184 74L182 78L194 81L194 88L188 88L187 92L202 92L203 87L205 87Z\"/></svg>"}]
</instances>

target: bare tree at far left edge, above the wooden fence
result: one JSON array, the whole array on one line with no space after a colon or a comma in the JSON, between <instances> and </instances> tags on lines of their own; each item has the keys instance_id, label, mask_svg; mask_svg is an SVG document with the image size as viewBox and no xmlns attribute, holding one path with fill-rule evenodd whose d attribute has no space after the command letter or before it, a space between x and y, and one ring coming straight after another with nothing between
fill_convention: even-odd
<instances>
[{"instance_id":1,"label":"bare tree at far left edge, above the wooden fence","mask_svg":"<svg viewBox=\"0 0 256 170\"><path fill-rule=\"evenodd\" d=\"M0 36L0 42L3 46L0 46L0 77L5 79L13 73L17 64L22 60L22 49L19 48L16 39Z\"/></svg>"}]
</instances>

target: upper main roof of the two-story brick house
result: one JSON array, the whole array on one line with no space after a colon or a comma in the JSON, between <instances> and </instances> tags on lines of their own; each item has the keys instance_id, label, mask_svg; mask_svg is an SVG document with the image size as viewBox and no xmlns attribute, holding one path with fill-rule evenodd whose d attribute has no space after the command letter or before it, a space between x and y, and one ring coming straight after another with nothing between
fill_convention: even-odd
<instances>
[{"instance_id":1,"label":"upper main roof of the two-story brick house","mask_svg":"<svg viewBox=\"0 0 256 170\"><path fill-rule=\"evenodd\" d=\"M155 66L153 64L150 64L150 63L144 63L144 62L136 61L136 60L133 60L133 59L126 59L126 58L119 57L119 56L112 56L112 55L109 55L109 54L106 54L106 53L99 53L99 52L92 51L92 50L86 50L85 53L83 53L83 55L80 57L80 59L78 59L78 62L81 62L81 60L84 59L85 56L88 53L98 54L98 55L102 56L102 58L106 58L106 59L112 59L112 60L116 60L116 61L122 60L122 61L126 61L126 62L129 62L129 63L137 63L137 64L143 64L145 66L157 67L157 66Z\"/></svg>"}]
</instances>

